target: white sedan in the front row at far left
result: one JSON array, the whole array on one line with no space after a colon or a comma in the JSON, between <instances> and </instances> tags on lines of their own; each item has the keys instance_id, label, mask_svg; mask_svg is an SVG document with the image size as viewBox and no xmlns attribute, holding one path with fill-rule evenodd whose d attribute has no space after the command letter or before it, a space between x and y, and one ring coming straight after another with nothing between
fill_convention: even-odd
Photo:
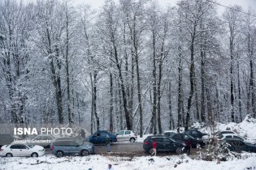
<instances>
[{"instance_id":1,"label":"white sedan in the front row at far left","mask_svg":"<svg viewBox=\"0 0 256 170\"><path fill-rule=\"evenodd\" d=\"M23 143L13 143L11 145L4 145L1 147L0 156L32 156L37 157L45 155L45 148L35 145L27 145Z\"/></svg>"}]
</instances>

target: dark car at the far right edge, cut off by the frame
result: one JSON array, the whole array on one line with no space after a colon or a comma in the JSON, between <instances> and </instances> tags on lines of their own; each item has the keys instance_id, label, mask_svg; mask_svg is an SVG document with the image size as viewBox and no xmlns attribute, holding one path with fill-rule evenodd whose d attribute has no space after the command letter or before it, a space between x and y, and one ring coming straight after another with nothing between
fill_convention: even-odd
<instances>
[{"instance_id":1,"label":"dark car at the far right edge, cut off by the frame","mask_svg":"<svg viewBox=\"0 0 256 170\"><path fill-rule=\"evenodd\" d=\"M256 153L256 146L249 142L241 141L238 138L225 138L220 145L223 149L228 149L229 151L247 151Z\"/></svg>"}]
</instances>

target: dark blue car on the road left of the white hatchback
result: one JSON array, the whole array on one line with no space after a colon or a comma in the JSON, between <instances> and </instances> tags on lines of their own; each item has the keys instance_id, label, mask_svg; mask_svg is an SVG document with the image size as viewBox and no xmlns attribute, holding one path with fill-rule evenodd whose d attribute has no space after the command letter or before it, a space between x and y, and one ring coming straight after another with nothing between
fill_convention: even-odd
<instances>
[{"instance_id":1,"label":"dark blue car on the road left of the white hatchback","mask_svg":"<svg viewBox=\"0 0 256 170\"><path fill-rule=\"evenodd\" d=\"M93 144L106 144L106 134L111 138L111 142L117 142L116 136L106 130L97 130L94 134L85 138L85 141Z\"/></svg>"}]
</instances>

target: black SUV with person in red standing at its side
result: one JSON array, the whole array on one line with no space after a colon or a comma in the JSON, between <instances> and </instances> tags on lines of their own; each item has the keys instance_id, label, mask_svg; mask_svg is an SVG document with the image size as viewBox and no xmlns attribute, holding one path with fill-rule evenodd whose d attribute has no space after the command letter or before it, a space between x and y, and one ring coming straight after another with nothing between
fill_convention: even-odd
<instances>
[{"instance_id":1,"label":"black SUV with person in red standing at its side","mask_svg":"<svg viewBox=\"0 0 256 170\"><path fill-rule=\"evenodd\" d=\"M177 154L180 154L182 152L182 148L184 147L184 143L176 142L165 135L152 135L145 138L143 142L144 151L147 151L150 154L152 154L153 151L153 139L157 143L157 151L173 151L176 152Z\"/></svg>"}]
</instances>

